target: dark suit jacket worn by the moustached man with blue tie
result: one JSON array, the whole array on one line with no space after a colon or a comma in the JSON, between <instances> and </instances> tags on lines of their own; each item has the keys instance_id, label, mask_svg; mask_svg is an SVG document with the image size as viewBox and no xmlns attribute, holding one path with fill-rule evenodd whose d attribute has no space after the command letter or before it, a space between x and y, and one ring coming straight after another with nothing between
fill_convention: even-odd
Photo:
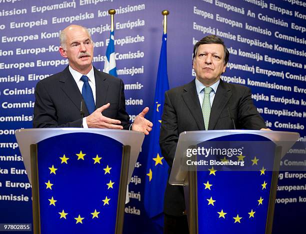
<instances>
[{"instance_id":1,"label":"dark suit jacket worn by the moustached man with blue tie","mask_svg":"<svg viewBox=\"0 0 306 234\"><path fill-rule=\"evenodd\" d=\"M102 112L109 118L121 121L124 129L129 127L125 111L124 85L121 79L94 69L95 108L107 102L110 106ZM80 127L80 93L68 66L61 72L40 80L35 88L33 127ZM89 115L85 107L85 116Z\"/></svg>"}]
</instances>

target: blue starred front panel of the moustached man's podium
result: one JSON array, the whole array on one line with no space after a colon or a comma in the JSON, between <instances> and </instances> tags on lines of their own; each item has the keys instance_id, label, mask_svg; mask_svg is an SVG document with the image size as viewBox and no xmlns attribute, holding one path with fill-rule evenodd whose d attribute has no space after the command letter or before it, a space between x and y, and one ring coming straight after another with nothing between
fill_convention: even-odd
<instances>
[{"instance_id":1,"label":"blue starred front panel of the moustached man's podium","mask_svg":"<svg viewBox=\"0 0 306 234\"><path fill-rule=\"evenodd\" d=\"M38 143L41 233L114 233L122 144L69 133Z\"/></svg>"}]
</instances>

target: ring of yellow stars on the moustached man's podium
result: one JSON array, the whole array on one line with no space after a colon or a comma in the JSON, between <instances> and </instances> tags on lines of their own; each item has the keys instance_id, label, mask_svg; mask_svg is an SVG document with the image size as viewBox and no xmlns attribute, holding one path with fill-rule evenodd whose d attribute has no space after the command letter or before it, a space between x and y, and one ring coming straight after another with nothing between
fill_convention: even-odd
<instances>
[{"instance_id":1,"label":"ring of yellow stars on the moustached man's podium","mask_svg":"<svg viewBox=\"0 0 306 234\"><path fill-rule=\"evenodd\" d=\"M75 154L77 156L77 160L84 160L84 156L86 155L85 153L83 153L81 150L79 151L79 153L76 153ZM68 164L68 160L70 159L69 157L66 157L65 154L63 154L62 157L59 157L60 159L60 164ZM93 159L93 164L95 163L100 163L100 160L102 159L102 157L99 157L98 154L96 154L95 157L92 157ZM161 163L162 164L162 163ZM56 170L58 168L55 168L54 165L52 165L51 167L48 167L49 170L50 170L50 174L55 174L56 175ZM109 167L109 165L107 164L105 168L103 168L104 170L104 174L110 174L110 170L111 170L111 167ZM113 188L113 184L114 182L111 181L111 179L109 180L108 183L106 183L107 185L107 189L109 188ZM53 183L50 182L50 180L48 180L47 182L45 182L45 185L46 185L46 189L50 189L52 190L52 186L54 185ZM48 199L49 200L49 205L53 205L55 206L55 202L57 200L54 199L53 196L51 196L51 198ZM104 199L102 199L101 201L103 202L103 206L104 205L109 205L109 200L110 198L108 198L107 196L105 196ZM90 214L92 215L92 218L98 218L98 214L100 213L100 211L97 211L96 209L94 209L93 212L91 212ZM59 218L63 218L63 219L66 219L66 216L68 215L67 212L64 211L64 209L61 210L61 212L58 212L59 214ZM84 217L81 217L80 214L78 214L77 217L74 217L74 219L76 220L75 221L75 224L77 223L83 223L83 219Z\"/></svg>"}]
</instances>

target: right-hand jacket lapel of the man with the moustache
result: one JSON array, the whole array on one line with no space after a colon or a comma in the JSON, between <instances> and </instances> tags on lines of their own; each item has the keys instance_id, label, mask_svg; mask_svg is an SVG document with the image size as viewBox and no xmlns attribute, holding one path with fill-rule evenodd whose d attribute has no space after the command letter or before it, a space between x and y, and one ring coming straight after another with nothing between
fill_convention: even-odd
<instances>
[{"instance_id":1,"label":"right-hand jacket lapel of the man with the moustache","mask_svg":"<svg viewBox=\"0 0 306 234\"><path fill-rule=\"evenodd\" d=\"M95 69L94 70L94 79L95 79L95 108L101 107L105 104L108 83L105 81L105 77L101 75L101 72Z\"/></svg>"}]
</instances>

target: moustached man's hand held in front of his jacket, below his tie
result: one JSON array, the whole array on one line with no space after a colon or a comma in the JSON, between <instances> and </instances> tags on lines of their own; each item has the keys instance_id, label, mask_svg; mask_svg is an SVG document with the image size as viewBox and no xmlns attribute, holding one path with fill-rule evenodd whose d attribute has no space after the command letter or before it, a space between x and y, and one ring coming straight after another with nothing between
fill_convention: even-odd
<instances>
[{"instance_id":1,"label":"moustached man's hand held in front of his jacket, below his tie","mask_svg":"<svg viewBox=\"0 0 306 234\"><path fill-rule=\"evenodd\" d=\"M95 128L123 129L121 125L117 125L120 124L121 121L113 118L107 118L101 113L103 110L107 109L109 105L110 103L102 105L88 115L86 117L87 126Z\"/></svg>"}]
</instances>

